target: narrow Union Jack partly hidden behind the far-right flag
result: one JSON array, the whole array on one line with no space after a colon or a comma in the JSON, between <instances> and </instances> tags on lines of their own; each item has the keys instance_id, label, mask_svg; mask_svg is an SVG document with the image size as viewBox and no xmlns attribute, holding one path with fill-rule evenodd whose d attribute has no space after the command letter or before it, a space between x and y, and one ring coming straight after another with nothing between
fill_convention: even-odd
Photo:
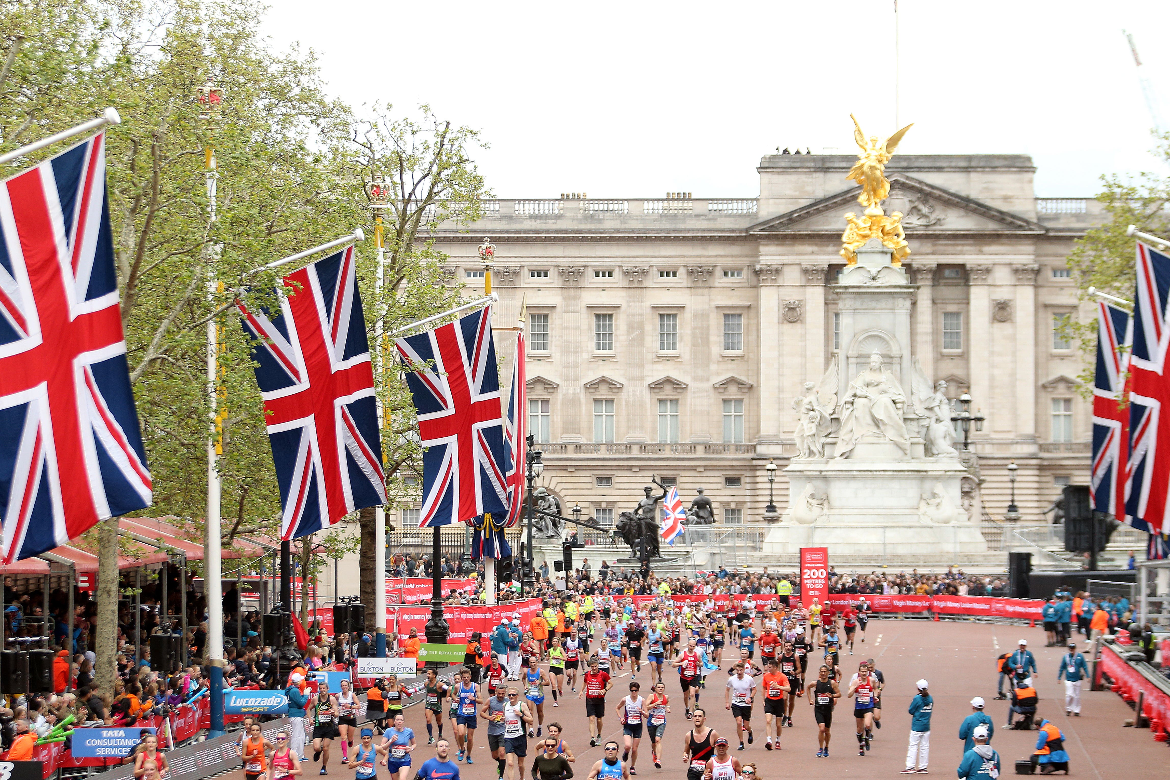
<instances>
[{"instance_id":1,"label":"narrow Union Jack partly hidden behind the far-right flag","mask_svg":"<svg viewBox=\"0 0 1170 780\"><path fill-rule=\"evenodd\" d=\"M1097 356L1093 388L1093 509L1126 519L1129 409L1122 406L1133 318L1124 309L1097 303Z\"/></svg>"}]
</instances>

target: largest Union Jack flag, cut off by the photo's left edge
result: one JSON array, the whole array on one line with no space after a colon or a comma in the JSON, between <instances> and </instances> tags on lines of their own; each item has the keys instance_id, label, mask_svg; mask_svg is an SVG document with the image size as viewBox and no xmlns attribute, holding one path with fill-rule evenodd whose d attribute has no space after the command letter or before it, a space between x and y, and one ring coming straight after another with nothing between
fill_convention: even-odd
<instances>
[{"instance_id":1,"label":"largest Union Jack flag, cut off by the photo's left edge","mask_svg":"<svg viewBox=\"0 0 1170 780\"><path fill-rule=\"evenodd\" d=\"M0 182L4 562L150 504L102 133Z\"/></svg>"}]
</instances>

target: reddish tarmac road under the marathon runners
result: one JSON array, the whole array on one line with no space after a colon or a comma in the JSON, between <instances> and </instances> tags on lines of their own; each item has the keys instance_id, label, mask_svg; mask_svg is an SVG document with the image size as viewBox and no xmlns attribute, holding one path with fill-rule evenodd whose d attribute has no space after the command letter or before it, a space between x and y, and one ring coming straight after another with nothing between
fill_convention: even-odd
<instances>
[{"instance_id":1,"label":"reddish tarmac road under the marathon runners","mask_svg":"<svg viewBox=\"0 0 1170 780\"><path fill-rule=\"evenodd\" d=\"M928 622L922 620L872 620L865 644L858 640L854 653L849 656L847 648L841 657L841 668L846 679L856 671L859 661L874 657L878 668L886 677L886 691L882 695L882 729L874 732L876 739L872 750L862 758L858 755L854 737L852 706L844 697L834 715L831 758L818 759L817 725L812 707L805 698L800 698L793 713L794 726L784 730L783 750L765 751L763 734L763 705L757 697L753 707L753 723L757 739L743 752L735 751L735 720L724 710L722 683L725 674L713 671L707 678L707 689L702 693L701 704L708 711L708 725L731 741L731 754L741 761L752 761L759 769L759 780L776 778L889 778L899 774L906 765L907 737L910 727L910 716L907 713L910 699L915 695L914 684L920 678L930 683L930 693L935 699L934 718L930 733L930 774L944 778L956 776L956 768L962 759L963 743L958 739L958 727L963 718L971 713L969 702L975 696L982 696L987 702L986 712L994 719L996 733L992 738L994 747L1003 759L1004 774L1013 773L1016 759L1026 759L1034 750L1035 732L1004 731L1007 703L996 700L996 658L1017 647L1020 639L1028 641L1028 647L1035 654L1039 676L1035 688L1040 695L1039 715L1049 718L1065 732L1065 748L1068 751L1071 774L1080 778L1099 778L1102 780L1135 780L1156 776L1170 776L1170 743L1154 741L1148 729L1126 729L1123 722L1133 717L1133 710L1108 690L1089 691L1081 695L1082 716L1072 718L1065 716L1064 684L1057 679L1057 667L1064 650L1045 648L1045 635L1040 628L1023 628L977 623L968 621ZM724 651L724 669L729 667L729 653ZM812 670L810 663L810 672ZM642 683L642 695L648 693L649 669L638 675ZM613 713L618 700L627 692L629 669L615 670L614 688L606 697L610 717L605 719L605 736L621 741L621 724ZM690 722L683 716L682 691L675 671L665 672L667 693L670 697L672 715L667 720L667 732L663 739L663 766L655 769L649 757L646 740L638 758L638 778L656 780L684 780L686 766L681 760L682 739ZM518 683L512 683L518 684ZM578 690L580 685L578 684ZM567 693L567 684L565 688ZM407 709L406 725L414 729L419 738L419 747L414 752L413 769L422 761L434 755L434 748L426 744L427 731L422 719L422 709L418 705ZM545 722L559 722L565 727L567 740L577 761L573 765L576 778L585 780L590 767L601 758L601 747L589 746L589 720L585 716L585 703L570 696L562 699L560 706L553 707L551 697L545 698ZM756 723L758 720L758 723ZM449 737L449 724L445 725L443 736ZM378 739L378 738L376 738ZM529 740L529 760L525 772L531 773L531 757L537 751L536 739ZM307 748L308 751L308 748ZM304 765L305 780L316 778L319 764L310 761ZM452 752L454 757L454 750ZM494 780L496 764L487 748L486 723L480 719L476 738L474 764L460 764L460 774L464 780ZM340 764L340 748L335 743L330 764L330 778L352 778L349 765ZM379 778L388 778L385 767L378 767ZM243 773L230 773L233 780ZM413 771L412 775L413 778Z\"/></svg>"}]
</instances>

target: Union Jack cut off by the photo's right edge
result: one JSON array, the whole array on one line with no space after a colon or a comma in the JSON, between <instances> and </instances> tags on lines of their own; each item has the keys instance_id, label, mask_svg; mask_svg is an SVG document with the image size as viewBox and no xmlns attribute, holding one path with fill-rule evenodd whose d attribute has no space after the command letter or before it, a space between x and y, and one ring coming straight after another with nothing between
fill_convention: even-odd
<instances>
[{"instance_id":1,"label":"Union Jack cut off by the photo's right edge","mask_svg":"<svg viewBox=\"0 0 1170 780\"><path fill-rule=\"evenodd\" d=\"M1170 257L1138 242L1134 348L1129 358L1126 520L1149 533L1170 531L1170 414L1163 414L1170 412L1170 378L1163 375L1170 343L1168 295Z\"/></svg>"}]
</instances>

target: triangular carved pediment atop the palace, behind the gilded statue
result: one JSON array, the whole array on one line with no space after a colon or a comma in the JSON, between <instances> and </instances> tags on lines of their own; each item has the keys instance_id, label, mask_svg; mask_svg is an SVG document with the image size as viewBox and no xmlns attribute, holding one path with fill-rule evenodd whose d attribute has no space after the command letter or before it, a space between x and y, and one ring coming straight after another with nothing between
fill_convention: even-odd
<instances>
[{"instance_id":1,"label":"triangular carved pediment atop the palace, behind the gilded statue","mask_svg":"<svg viewBox=\"0 0 1170 780\"><path fill-rule=\"evenodd\" d=\"M882 203L886 214L902 212L908 235L914 233L1042 233L1044 226L1018 214L989 206L973 198L915 179L906 173L889 175L889 198ZM748 229L750 234L842 232L844 216L860 213L859 187L844 189L828 198L773 216Z\"/></svg>"}]
</instances>

